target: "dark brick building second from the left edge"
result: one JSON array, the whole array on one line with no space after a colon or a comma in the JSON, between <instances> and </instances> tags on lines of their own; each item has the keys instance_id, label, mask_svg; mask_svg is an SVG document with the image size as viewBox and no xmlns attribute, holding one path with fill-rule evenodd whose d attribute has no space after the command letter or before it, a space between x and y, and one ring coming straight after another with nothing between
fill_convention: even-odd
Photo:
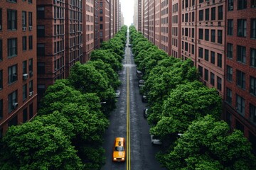
<instances>
[{"instance_id":1,"label":"dark brick building second from the left edge","mask_svg":"<svg viewBox=\"0 0 256 170\"><path fill-rule=\"evenodd\" d=\"M38 102L56 79L65 78L65 3L37 1Z\"/></svg>"}]
</instances>

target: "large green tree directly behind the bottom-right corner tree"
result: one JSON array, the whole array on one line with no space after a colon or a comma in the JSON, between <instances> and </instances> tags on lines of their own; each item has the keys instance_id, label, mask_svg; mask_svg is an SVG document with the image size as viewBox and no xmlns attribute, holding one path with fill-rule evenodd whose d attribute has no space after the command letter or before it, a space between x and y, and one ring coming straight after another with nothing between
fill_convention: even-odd
<instances>
[{"instance_id":1,"label":"large green tree directly behind the bottom-right corner tree","mask_svg":"<svg viewBox=\"0 0 256 170\"><path fill-rule=\"evenodd\" d=\"M151 132L166 137L185 132L188 126L205 115L219 118L221 98L216 89L208 89L199 81L179 84L164 101L161 119Z\"/></svg>"}]
</instances>

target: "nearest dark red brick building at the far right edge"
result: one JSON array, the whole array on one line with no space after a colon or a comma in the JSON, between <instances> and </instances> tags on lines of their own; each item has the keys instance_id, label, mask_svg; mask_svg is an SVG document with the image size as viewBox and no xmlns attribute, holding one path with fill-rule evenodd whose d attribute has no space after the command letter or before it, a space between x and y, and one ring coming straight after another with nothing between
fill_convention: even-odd
<instances>
[{"instance_id":1,"label":"nearest dark red brick building at the far right edge","mask_svg":"<svg viewBox=\"0 0 256 170\"><path fill-rule=\"evenodd\" d=\"M256 154L256 1L229 1L223 119L244 132Z\"/></svg>"}]
</instances>

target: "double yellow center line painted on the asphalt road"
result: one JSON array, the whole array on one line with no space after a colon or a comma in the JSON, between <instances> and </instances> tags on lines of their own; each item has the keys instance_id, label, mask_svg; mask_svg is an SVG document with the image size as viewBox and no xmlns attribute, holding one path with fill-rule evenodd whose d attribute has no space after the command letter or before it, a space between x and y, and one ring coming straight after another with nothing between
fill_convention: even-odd
<instances>
[{"instance_id":1,"label":"double yellow center line painted on the asphalt road","mask_svg":"<svg viewBox=\"0 0 256 170\"><path fill-rule=\"evenodd\" d=\"M129 133L129 67L127 67L127 170L131 169L131 140Z\"/></svg>"}]
</instances>

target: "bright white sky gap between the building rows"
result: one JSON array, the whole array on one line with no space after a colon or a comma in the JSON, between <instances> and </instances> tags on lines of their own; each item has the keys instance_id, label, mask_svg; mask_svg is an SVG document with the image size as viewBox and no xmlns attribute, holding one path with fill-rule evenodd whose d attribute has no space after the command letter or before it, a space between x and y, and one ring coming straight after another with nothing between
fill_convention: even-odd
<instances>
[{"instance_id":1,"label":"bright white sky gap between the building rows","mask_svg":"<svg viewBox=\"0 0 256 170\"><path fill-rule=\"evenodd\" d=\"M119 0L121 2L121 11L124 15L124 25L128 27L133 23L134 0Z\"/></svg>"}]
</instances>

